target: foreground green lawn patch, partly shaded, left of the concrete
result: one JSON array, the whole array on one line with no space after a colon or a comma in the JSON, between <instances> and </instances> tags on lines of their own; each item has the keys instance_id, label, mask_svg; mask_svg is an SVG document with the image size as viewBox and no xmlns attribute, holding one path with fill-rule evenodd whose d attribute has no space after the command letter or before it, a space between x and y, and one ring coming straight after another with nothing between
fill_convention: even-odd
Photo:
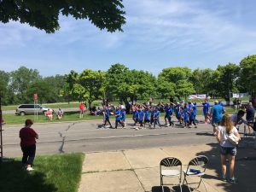
<instances>
[{"instance_id":1,"label":"foreground green lawn patch, partly shaded, left of the concrete","mask_svg":"<svg viewBox=\"0 0 256 192\"><path fill-rule=\"evenodd\" d=\"M35 170L26 172L20 159L0 162L1 192L77 192L84 154L36 156Z\"/></svg>"}]
</instances>

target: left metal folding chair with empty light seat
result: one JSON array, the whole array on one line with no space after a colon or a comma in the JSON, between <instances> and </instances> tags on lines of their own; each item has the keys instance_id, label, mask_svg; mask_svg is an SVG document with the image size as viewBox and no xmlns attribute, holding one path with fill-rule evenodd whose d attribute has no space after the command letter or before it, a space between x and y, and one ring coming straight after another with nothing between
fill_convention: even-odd
<instances>
[{"instance_id":1,"label":"left metal folding chair with empty light seat","mask_svg":"<svg viewBox=\"0 0 256 192\"><path fill-rule=\"evenodd\" d=\"M179 168L177 166L180 166ZM176 169L175 169L176 168ZM160 185L164 192L163 177L178 177L179 187L182 192L181 177L182 177L182 162L175 157L166 157L160 161Z\"/></svg>"}]
</instances>

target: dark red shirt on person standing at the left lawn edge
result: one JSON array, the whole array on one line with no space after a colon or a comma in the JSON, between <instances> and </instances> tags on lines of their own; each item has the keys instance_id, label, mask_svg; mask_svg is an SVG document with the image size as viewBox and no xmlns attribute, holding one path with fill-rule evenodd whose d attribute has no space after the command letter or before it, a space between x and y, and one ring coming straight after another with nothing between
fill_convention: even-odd
<instances>
[{"instance_id":1,"label":"dark red shirt on person standing at the left lawn edge","mask_svg":"<svg viewBox=\"0 0 256 192\"><path fill-rule=\"evenodd\" d=\"M24 127L20 130L20 146L25 147L36 143L38 133L32 128Z\"/></svg>"}]
</instances>

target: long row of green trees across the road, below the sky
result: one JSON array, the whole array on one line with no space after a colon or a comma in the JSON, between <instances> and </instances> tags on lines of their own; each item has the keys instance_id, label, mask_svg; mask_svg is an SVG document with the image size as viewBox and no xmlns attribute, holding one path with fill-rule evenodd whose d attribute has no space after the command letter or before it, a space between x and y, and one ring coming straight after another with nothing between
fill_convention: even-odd
<instances>
[{"instance_id":1,"label":"long row of green trees across the road, below the sky","mask_svg":"<svg viewBox=\"0 0 256 192\"><path fill-rule=\"evenodd\" d=\"M239 65L228 63L217 69L191 70L167 67L158 76L143 70L114 64L108 71L84 69L65 75L42 77L37 69L20 67L12 72L0 71L0 94L3 105L38 102L119 100L125 102L150 97L186 97L190 94L229 96L230 92L256 93L256 55L248 55Z\"/></svg>"}]
</instances>

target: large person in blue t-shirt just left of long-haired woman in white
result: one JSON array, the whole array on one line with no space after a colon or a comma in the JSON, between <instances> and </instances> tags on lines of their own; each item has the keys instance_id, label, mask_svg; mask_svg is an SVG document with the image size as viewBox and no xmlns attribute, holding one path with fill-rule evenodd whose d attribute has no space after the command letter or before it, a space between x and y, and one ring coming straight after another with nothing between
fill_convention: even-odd
<instances>
[{"instance_id":1,"label":"large person in blue t-shirt just left of long-haired woman in white","mask_svg":"<svg viewBox=\"0 0 256 192\"><path fill-rule=\"evenodd\" d=\"M220 125L221 119L223 117L224 108L218 104L218 101L214 101L214 105L212 106L210 117L212 118L212 127L213 127L213 135L217 134L217 127Z\"/></svg>"}]
</instances>

